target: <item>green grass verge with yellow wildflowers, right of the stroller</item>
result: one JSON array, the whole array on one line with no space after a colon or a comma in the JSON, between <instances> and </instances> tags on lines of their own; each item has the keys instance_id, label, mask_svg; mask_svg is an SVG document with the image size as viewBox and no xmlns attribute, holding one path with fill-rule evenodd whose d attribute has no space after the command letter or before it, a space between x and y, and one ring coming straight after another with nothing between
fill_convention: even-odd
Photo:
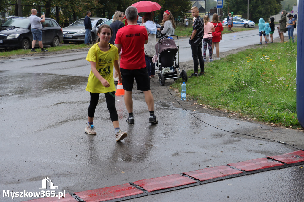
<instances>
[{"instance_id":1,"label":"green grass verge with yellow wildflowers, right of the stroller","mask_svg":"<svg viewBox=\"0 0 304 202\"><path fill-rule=\"evenodd\" d=\"M181 90L181 79L171 87ZM296 43L262 45L206 63L205 76L188 79L187 96L262 122L301 128L296 119Z\"/></svg>"}]
</instances>

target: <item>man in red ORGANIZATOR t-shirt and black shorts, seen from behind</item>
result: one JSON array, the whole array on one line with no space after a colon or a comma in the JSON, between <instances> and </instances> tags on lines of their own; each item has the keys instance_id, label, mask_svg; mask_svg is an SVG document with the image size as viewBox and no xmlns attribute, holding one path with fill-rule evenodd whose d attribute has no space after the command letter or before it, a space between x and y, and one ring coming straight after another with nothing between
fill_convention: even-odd
<instances>
[{"instance_id":1,"label":"man in red ORGANIZATOR t-shirt and black shorts, seen from behind","mask_svg":"<svg viewBox=\"0 0 304 202\"><path fill-rule=\"evenodd\" d=\"M149 122L157 124L154 114L154 98L150 89L150 78L146 67L144 44L148 42L148 35L144 26L137 25L138 12L134 6L126 9L128 26L117 31L115 45L118 52L123 49L120 59L120 73L123 89L125 90L125 105L129 113L128 123L134 123L132 89L134 78L137 89L142 90L149 109Z\"/></svg>"}]
</instances>

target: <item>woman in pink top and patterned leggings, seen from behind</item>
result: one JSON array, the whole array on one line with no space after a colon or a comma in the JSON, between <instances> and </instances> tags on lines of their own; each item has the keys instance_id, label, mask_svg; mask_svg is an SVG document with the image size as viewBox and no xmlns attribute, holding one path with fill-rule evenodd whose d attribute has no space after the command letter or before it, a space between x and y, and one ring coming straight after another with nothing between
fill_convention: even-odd
<instances>
[{"instance_id":1,"label":"woman in pink top and patterned leggings, seen from behind","mask_svg":"<svg viewBox=\"0 0 304 202\"><path fill-rule=\"evenodd\" d=\"M214 25L209 22L208 15L204 16L204 36L203 36L203 58L206 62L207 45L209 49L209 62L212 62L212 32L214 32Z\"/></svg>"}]
</instances>

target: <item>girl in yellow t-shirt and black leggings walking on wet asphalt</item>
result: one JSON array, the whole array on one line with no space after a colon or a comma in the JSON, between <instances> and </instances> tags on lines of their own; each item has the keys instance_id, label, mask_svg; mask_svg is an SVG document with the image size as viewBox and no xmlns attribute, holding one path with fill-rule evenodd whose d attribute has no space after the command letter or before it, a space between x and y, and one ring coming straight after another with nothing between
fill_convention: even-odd
<instances>
[{"instance_id":1,"label":"girl in yellow t-shirt and black leggings walking on wet asphalt","mask_svg":"<svg viewBox=\"0 0 304 202\"><path fill-rule=\"evenodd\" d=\"M115 106L116 88L113 80L113 66L118 73L119 83L121 83L122 78L117 61L118 49L109 43L112 34L113 32L109 25L101 25L97 31L98 42L90 48L86 58L91 63L91 71L86 88L90 92L91 99L88 109L88 125L85 131L90 135L96 135L93 125L94 113L98 104L99 93L105 93L105 101L116 133L116 141L120 141L127 136L127 133L119 128Z\"/></svg>"}]
</instances>

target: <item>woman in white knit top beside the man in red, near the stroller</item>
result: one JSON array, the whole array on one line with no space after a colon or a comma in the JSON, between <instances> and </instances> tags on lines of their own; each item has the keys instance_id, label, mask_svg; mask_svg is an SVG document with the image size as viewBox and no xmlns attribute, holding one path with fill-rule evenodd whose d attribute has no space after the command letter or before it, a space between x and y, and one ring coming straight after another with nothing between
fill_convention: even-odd
<instances>
[{"instance_id":1,"label":"woman in white knit top beside the man in red, near the stroller","mask_svg":"<svg viewBox=\"0 0 304 202\"><path fill-rule=\"evenodd\" d=\"M148 69L149 77L155 77L155 64L152 62L152 58L156 55L155 44L156 44L156 24L153 21L151 13L146 13L143 18L143 24L147 30L148 43L144 45L146 66Z\"/></svg>"}]
</instances>

